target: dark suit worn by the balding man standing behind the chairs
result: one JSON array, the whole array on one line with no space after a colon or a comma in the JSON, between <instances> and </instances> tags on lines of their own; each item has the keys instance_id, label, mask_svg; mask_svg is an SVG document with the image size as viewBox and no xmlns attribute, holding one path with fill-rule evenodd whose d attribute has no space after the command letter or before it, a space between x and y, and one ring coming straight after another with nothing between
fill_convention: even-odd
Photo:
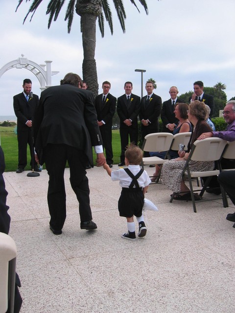
<instances>
[{"instance_id":1,"label":"dark suit worn by the balding man standing behind the chairs","mask_svg":"<svg viewBox=\"0 0 235 313\"><path fill-rule=\"evenodd\" d=\"M176 103L185 103L185 101L181 100L180 98L177 97L175 104ZM169 99L167 101L164 101L163 103L163 107L162 107L162 111L161 111L161 119L163 122L163 131L166 133L173 133L173 131L170 131L168 128L166 128L165 126L167 124L175 124L177 125L177 123L179 122L178 118L175 117L175 113L174 113L175 108L172 106L172 100Z\"/></svg>"}]
</instances>

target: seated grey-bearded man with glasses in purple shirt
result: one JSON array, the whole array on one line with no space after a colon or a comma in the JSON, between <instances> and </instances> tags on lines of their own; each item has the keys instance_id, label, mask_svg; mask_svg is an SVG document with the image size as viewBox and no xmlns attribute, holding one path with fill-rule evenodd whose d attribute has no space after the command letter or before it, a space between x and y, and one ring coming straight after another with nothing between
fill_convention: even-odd
<instances>
[{"instance_id":1,"label":"seated grey-bearded man with glasses in purple shirt","mask_svg":"<svg viewBox=\"0 0 235 313\"><path fill-rule=\"evenodd\" d=\"M219 137L221 139L227 141L235 141L235 101L230 100L226 103L223 116L225 122L228 124L226 131L220 132L210 132L210 133L203 133L197 139L205 139L209 137ZM229 169L235 168L235 159L223 159L221 160L222 169ZM221 193L219 188L219 183L217 181L217 177L213 176L210 183L209 188L206 190L209 193L214 193L219 195Z\"/></svg>"}]
</instances>

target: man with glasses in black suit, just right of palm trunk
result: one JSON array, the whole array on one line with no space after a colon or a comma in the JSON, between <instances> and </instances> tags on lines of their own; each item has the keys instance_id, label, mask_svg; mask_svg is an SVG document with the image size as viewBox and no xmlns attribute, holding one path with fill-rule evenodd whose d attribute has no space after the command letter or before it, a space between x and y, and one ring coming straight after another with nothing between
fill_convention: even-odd
<instances>
[{"instance_id":1,"label":"man with glasses in black suit, just right of palm trunk","mask_svg":"<svg viewBox=\"0 0 235 313\"><path fill-rule=\"evenodd\" d=\"M117 98L109 93L110 88L110 82L103 82L103 93L95 97L94 107L97 113L98 126L103 140L103 148L105 149L106 163L109 167L113 167L112 124Z\"/></svg>"}]
</instances>

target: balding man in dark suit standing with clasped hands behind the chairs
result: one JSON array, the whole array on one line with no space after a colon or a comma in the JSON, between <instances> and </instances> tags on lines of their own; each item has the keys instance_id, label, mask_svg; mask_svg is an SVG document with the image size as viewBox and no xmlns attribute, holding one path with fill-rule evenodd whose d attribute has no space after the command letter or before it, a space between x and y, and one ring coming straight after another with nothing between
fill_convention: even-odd
<instances>
[{"instance_id":1,"label":"balding man in dark suit standing with clasped hands behind the chairs","mask_svg":"<svg viewBox=\"0 0 235 313\"><path fill-rule=\"evenodd\" d=\"M175 117L175 104L178 103L185 103L184 100L181 100L177 97L179 93L177 87L172 86L169 90L170 99L164 101L162 111L161 111L161 119L163 122L163 131L166 133L173 133L173 130L179 120Z\"/></svg>"}]
</instances>

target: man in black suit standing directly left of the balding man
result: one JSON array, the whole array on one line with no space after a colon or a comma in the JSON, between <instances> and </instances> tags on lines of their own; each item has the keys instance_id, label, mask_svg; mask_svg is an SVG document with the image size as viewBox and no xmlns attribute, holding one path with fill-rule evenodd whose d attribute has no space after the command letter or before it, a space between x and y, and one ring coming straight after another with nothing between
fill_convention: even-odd
<instances>
[{"instance_id":1,"label":"man in black suit standing directly left of the balding man","mask_svg":"<svg viewBox=\"0 0 235 313\"><path fill-rule=\"evenodd\" d=\"M147 134L159 132L159 116L162 109L162 99L160 96L153 93L153 82L147 81L145 84L147 95L141 99L141 136L142 140ZM144 156L149 156L145 152Z\"/></svg>"}]
</instances>

